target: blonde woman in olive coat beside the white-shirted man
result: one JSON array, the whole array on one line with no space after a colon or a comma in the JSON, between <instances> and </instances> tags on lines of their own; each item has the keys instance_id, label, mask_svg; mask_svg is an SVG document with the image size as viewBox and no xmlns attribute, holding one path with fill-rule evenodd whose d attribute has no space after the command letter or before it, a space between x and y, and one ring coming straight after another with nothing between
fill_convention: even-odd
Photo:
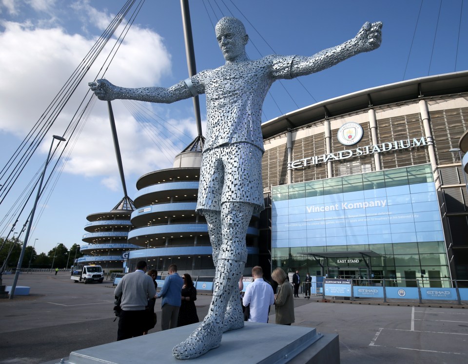
<instances>
[{"instance_id":1,"label":"blonde woman in olive coat beside the white-shirted man","mask_svg":"<svg viewBox=\"0 0 468 364\"><path fill-rule=\"evenodd\" d=\"M274 295L274 307L278 325L291 325L294 322L294 302L292 286L288 276L281 268L276 268L272 273L273 280L278 284L278 293Z\"/></svg>"}]
</instances>

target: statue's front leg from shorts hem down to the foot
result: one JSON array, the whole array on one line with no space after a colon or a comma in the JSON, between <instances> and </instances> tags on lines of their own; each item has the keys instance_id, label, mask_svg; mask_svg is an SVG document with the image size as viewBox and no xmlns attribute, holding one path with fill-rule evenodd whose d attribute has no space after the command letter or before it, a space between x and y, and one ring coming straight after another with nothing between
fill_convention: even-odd
<instances>
[{"instance_id":1,"label":"statue's front leg from shorts hem down to the foot","mask_svg":"<svg viewBox=\"0 0 468 364\"><path fill-rule=\"evenodd\" d=\"M225 311L234 292L238 294L238 281L247 260L245 235L253 211L254 206L249 203L222 204L222 243L216 258L213 299L202 324L184 342L174 347L173 354L177 359L199 357L221 344Z\"/></svg>"}]
</instances>

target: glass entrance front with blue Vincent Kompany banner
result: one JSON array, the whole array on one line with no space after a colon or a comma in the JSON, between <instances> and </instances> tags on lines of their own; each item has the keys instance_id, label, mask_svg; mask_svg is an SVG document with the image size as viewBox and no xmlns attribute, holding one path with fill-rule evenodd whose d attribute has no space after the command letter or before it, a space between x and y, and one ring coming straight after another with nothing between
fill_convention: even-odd
<instances>
[{"instance_id":1,"label":"glass entrance front with blue Vincent Kompany banner","mask_svg":"<svg viewBox=\"0 0 468 364\"><path fill-rule=\"evenodd\" d=\"M322 264L331 277L417 277L431 287L449 277L429 164L273 187L272 249L273 269L315 275ZM378 255L348 259L360 251ZM343 257L319 262L311 252Z\"/></svg>"}]
</instances>

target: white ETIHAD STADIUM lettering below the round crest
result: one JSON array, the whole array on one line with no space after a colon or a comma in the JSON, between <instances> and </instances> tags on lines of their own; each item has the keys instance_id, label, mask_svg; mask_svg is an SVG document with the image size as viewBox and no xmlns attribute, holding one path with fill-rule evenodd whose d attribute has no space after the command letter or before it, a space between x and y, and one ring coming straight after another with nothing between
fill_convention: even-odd
<instances>
[{"instance_id":1,"label":"white ETIHAD STADIUM lettering below the round crest","mask_svg":"<svg viewBox=\"0 0 468 364\"><path fill-rule=\"evenodd\" d=\"M424 136L420 138L395 140L393 142L387 142L382 144L368 145L365 147L359 147L356 149L344 150L329 154L314 155L312 157L301 158L288 163L288 170L295 170L298 168L306 168L314 166L328 161L348 159L351 157L358 157L361 155L382 153L396 151L399 149L418 148L426 146L427 140Z\"/></svg>"}]
</instances>

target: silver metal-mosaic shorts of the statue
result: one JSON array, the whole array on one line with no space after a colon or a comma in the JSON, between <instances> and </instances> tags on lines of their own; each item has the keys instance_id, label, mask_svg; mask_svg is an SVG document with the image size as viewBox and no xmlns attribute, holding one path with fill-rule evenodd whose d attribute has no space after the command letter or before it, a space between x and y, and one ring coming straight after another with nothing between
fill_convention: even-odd
<instances>
[{"instance_id":1,"label":"silver metal-mosaic shorts of the statue","mask_svg":"<svg viewBox=\"0 0 468 364\"><path fill-rule=\"evenodd\" d=\"M262 155L243 142L203 151L196 210L221 211L223 202L247 202L254 205L254 213L262 211Z\"/></svg>"}]
</instances>

